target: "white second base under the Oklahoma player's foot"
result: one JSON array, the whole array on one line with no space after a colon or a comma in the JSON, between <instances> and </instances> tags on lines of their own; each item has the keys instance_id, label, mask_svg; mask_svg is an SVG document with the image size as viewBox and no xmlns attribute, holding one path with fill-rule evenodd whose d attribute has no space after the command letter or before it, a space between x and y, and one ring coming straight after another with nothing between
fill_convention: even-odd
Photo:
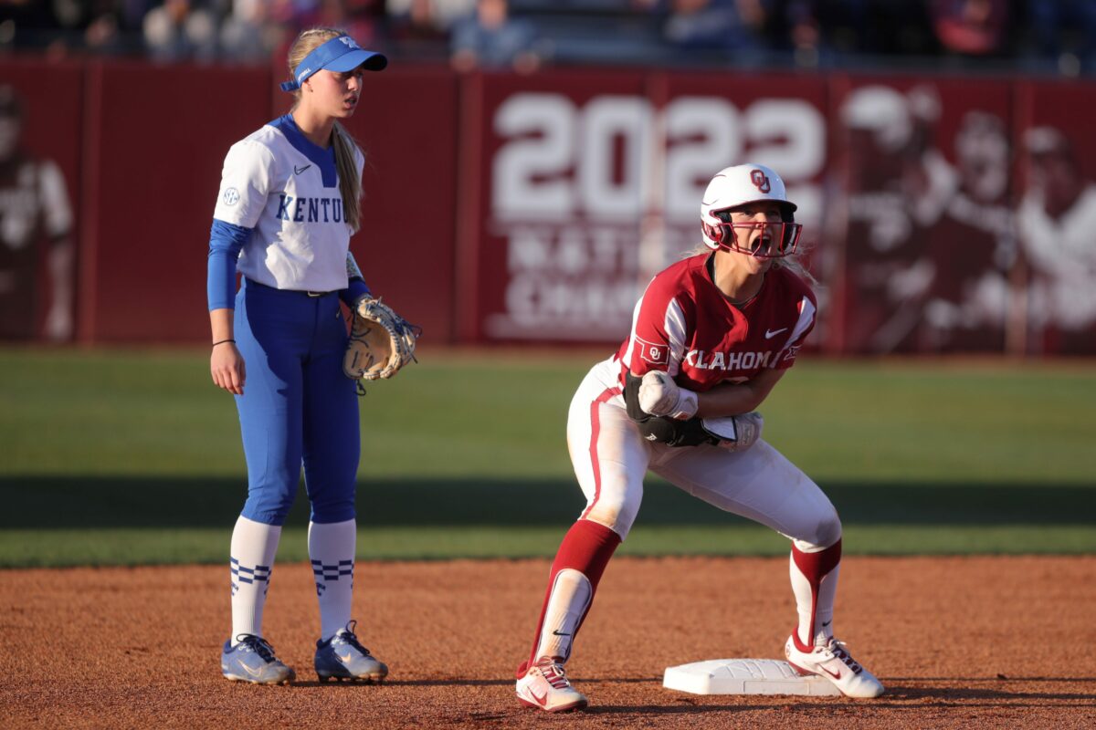
<instances>
[{"instance_id":1,"label":"white second base under the Oklahoma player's foot","mask_svg":"<svg viewBox=\"0 0 1096 730\"><path fill-rule=\"evenodd\" d=\"M799 676L791 664L776 659L710 659L667 667L662 686L694 695L841 695L821 676Z\"/></svg>"}]
</instances>

